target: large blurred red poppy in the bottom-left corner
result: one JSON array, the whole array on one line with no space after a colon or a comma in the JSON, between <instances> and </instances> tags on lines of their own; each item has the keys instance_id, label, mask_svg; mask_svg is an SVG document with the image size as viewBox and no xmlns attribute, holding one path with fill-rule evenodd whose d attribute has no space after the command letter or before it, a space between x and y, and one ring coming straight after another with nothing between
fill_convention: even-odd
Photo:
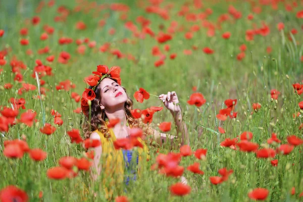
<instances>
[{"instance_id":1,"label":"large blurred red poppy in the bottom-left corner","mask_svg":"<svg viewBox=\"0 0 303 202\"><path fill-rule=\"evenodd\" d=\"M28 195L22 189L19 189L18 187L14 186L14 185L9 185L0 190L0 201L26 202L26 201L28 201Z\"/></svg>"}]
</instances>

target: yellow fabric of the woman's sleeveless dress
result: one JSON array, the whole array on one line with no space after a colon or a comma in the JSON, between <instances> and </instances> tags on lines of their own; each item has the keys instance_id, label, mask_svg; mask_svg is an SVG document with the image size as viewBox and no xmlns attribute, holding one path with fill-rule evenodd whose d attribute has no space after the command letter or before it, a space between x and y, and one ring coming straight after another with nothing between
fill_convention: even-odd
<instances>
[{"instance_id":1,"label":"yellow fabric of the woman's sleeveless dress","mask_svg":"<svg viewBox=\"0 0 303 202\"><path fill-rule=\"evenodd\" d=\"M124 158L121 149L115 149L114 141L116 140L115 133L112 128L109 129L110 136L105 135L99 130L93 132L98 133L102 144L102 171L103 175L103 188L107 199L111 199L113 195L119 194L123 191L121 185L124 181ZM138 153L138 176L140 177L144 163L146 163L150 156L148 155L148 148L144 141L138 137L138 140L143 144L143 148L135 147Z\"/></svg>"}]
</instances>

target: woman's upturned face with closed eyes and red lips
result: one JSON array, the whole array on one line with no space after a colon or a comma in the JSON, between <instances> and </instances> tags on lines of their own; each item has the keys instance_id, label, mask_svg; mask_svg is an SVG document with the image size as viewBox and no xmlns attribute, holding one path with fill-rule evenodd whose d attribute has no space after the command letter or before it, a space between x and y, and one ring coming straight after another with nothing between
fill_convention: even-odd
<instances>
[{"instance_id":1,"label":"woman's upturned face with closed eyes and red lips","mask_svg":"<svg viewBox=\"0 0 303 202\"><path fill-rule=\"evenodd\" d=\"M105 78L100 83L100 104L105 109L113 109L125 104L127 95L124 89L114 80Z\"/></svg>"}]
</instances>

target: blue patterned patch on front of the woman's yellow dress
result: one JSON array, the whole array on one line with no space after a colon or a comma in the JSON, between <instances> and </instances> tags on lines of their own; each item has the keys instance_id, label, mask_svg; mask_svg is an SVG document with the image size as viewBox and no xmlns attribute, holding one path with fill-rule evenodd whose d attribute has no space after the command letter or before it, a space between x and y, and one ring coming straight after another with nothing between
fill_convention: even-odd
<instances>
[{"instance_id":1,"label":"blue patterned patch on front of the woman's yellow dress","mask_svg":"<svg viewBox=\"0 0 303 202\"><path fill-rule=\"evenodd\" d=\"M122 153L123 153L123 158L124 158L124 162L125 162L125 184L128 185L130 180L135 181L136 180L136 167L138 165L139 162L139 156L137 156L136 159L136 165L133 165L133 161L132 161L132 156L133 156L133 151L132 150L126 150L126 149L122 149ZM130 179L129 177L130 175L133 175L133 178Z\"/></svg>"}]
</instances>

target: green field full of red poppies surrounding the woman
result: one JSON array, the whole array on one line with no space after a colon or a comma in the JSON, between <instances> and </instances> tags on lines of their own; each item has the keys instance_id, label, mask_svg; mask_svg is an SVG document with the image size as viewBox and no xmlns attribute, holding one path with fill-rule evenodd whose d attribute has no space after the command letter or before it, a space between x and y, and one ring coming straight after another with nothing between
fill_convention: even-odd
<instances>
[{"instance_id":1,"label":"green field full of red poppies surrounding the woman","mask_svg":"<svg viewBox=\"0 0 303 202\"><path fill-rule=\"evenodd\" d=\"M177 136L144 137L141 177L111 198L83 134L98 65ZM0 93L0 201L303 201L303 1L1 1Z\"/></svg>"}]
</instances>

